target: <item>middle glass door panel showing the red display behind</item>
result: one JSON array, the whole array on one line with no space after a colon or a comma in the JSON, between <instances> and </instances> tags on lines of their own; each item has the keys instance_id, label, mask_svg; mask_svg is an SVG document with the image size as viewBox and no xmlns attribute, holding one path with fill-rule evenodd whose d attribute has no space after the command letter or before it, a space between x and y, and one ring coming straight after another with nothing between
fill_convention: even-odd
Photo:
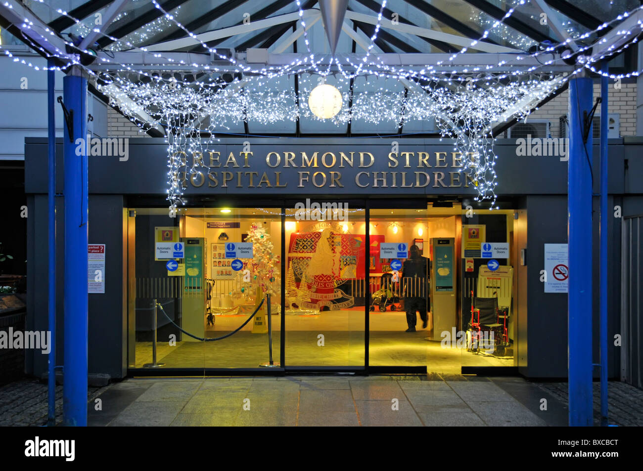
<instances>
[{"instance_id":1,"label":"middle glass door panel showing the red display behind","mask_svg":"<svg viewBox=\"0 0 643 471\"><path fill-rule=\"evenodd\" d=\"M339 204L285 211L287 366L365 362L365 210Z\"/></svg>"}]
</instances>

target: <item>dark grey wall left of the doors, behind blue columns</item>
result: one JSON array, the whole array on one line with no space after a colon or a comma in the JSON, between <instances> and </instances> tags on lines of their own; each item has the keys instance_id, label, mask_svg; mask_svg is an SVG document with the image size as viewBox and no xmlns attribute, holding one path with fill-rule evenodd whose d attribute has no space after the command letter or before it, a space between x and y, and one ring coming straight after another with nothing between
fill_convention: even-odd
<instances>
[{"instance_id":1,"label":"dark grey wall left of the doors, behind blue columns","mask_svg":"<svg viewBox=\"0 0 643 471\"><path fill-rule=\"evenodd\" d=\"M28 322L35 330L48 329L47 197L34 195L28 234ZM62 200L57 204L57 364L64 355L64 221ZM33 224L33 226L32 226ZM106 244L105 294L89 294L89 373L125 375L123 336L123 198L94 195L89 198L89 243ZM28 352L28 373L40 377L47 371L47 357Z\"/></svg>"}]
</instances>

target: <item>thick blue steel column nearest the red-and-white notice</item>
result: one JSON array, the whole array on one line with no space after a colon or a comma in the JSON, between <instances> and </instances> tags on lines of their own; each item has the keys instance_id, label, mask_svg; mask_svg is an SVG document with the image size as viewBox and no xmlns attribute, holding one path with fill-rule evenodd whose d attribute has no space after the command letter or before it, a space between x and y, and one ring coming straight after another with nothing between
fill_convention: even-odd
<instances>
[{"instance_id":1,"label":"thick blue steel column nearest the red-and-white notice","mask_svg":"<svg viewBox=\"0 0 643 471\"><path fill-rule=\"evenodd\" d=\"M65 127L65 339L62 418L87 425L87 79L75 67L63 79L64 103L73 111L73 137ZM82 141L77 139L82 138ZM83 143L81 156L76 149Z\"/></svg>"}]
</instances>

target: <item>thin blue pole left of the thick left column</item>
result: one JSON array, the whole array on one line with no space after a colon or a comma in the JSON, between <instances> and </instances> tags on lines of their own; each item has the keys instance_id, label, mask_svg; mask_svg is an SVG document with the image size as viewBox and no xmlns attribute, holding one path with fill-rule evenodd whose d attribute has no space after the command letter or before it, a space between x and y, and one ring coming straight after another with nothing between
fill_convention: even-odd
<instances>
[{"instance_id":1,"label":"thin blue pole left of the thick left column","mask_svg":"<svg viewBox=\"0 0 643 471\"><path fill-rule=\"evenodd\" d=\"M51 332L50 352L48 355L48 414L47 425L56 425L56 114L54 94L56 89L56 75L52 69L52 59L47 61L47 113L48 113L48 312L49 331Z\"/></svg>"}]
</instances>

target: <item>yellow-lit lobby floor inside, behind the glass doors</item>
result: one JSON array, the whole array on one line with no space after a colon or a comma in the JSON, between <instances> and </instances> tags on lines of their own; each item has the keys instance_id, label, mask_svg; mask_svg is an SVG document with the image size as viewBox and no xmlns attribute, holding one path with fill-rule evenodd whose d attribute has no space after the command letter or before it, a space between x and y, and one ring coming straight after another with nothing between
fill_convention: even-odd
<instances>
[{"instance_id":1,"label":"yellow-lit lobby floor inside, behind the glass doors","mask_svg":"<svg viewBox=\"0 0 643 471\"><path fill-rule=\"evenodd\" d=\"M217 316L217 337L237 328L246 315ZM280 316L273 315L273 358L280 358ZM418 319L419 322L421 322ZM267 335L251 333L249 323L239 333L222 341L179 341L157 344L157 358L165 368L257 368L268 359ZM288 366L363 366L363 311L323 312L319 315L286 315L285 364ZM429 325L430 327L430 325ZM372 366L426 366L427 371L460 374L462 366L513 366L512 356L498 357L472 353L455 346L443 348L433 341L430 329L407 333L403 312L370 314L369 363ZM323 345L320 345L323 335ZM187 338L184 336L184 338ZM136 342L131 367L141 368L152 361L151 342Z\"/></svg>"}]
</instances>

